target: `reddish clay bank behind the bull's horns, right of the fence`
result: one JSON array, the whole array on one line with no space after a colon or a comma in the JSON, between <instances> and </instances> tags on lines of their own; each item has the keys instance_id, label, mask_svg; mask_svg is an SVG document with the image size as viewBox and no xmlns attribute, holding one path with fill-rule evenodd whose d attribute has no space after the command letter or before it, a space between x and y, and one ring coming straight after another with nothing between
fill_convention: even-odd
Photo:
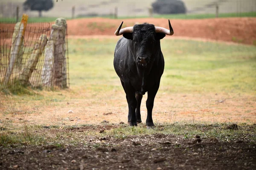
<instances>
[{"instance_id":1,"label":"reddish clay bank behind the bull's horns, right of the fence","mask_svg":"<svg viewBox=\"0 0 256 170\"><path fill-rule=\"evenodd\" d=\"M84 18L68 20L68 35L113 35L119 24L123 27L138 23L151 23L168 28L163 18L108 19ZM170 20L174 36L204 38L256 45L256 17L214 18L197 20Z\"/></svg>"}]
</instances>

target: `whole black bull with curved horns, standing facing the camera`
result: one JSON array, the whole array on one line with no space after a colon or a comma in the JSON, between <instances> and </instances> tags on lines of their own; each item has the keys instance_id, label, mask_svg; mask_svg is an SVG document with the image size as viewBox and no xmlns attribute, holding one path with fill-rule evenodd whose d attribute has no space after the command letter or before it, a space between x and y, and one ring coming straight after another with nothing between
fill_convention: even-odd
<instances>
[{"instance_id":1,"label":"whole black bull with curved horns, standing facing the camera","mask_svg":"<svg viewBox=\"0 0 256 170\"><path fill-rule=\"evenodd\" d=\"M115 35L123 37L116 44L114 68L125 90L128 122L131 126L141 122L140 104L148 92L146 125L150 128L154 126L152 109L164 70L160 39L174 32L170 21L169 30L148 23L121 29L122 23L115 32Z\"/></svg>"}]
</instances>

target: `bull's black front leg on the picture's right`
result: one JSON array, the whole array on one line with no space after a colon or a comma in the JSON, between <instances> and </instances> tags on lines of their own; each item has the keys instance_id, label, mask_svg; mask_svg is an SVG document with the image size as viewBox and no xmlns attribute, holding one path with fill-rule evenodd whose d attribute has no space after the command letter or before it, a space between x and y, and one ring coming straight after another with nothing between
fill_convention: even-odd
<instances>
[{"instance_id":1,"label":"bull's black front leg on the picture's right","mask_svg":"<svg viewBox=\"0 0 256 170\"><path fill-rule=\"evenodd\" d=\"M148 90L148 99L146 101L146 106L148 110L147 119L146 119L147 128L151 128L154 126L153 119L152 119L152 110L154 107L154 98L157 94L159 85L160 85L160 81L157 84L155 84L153 88Z\"/></svg>"}]
</instances>

